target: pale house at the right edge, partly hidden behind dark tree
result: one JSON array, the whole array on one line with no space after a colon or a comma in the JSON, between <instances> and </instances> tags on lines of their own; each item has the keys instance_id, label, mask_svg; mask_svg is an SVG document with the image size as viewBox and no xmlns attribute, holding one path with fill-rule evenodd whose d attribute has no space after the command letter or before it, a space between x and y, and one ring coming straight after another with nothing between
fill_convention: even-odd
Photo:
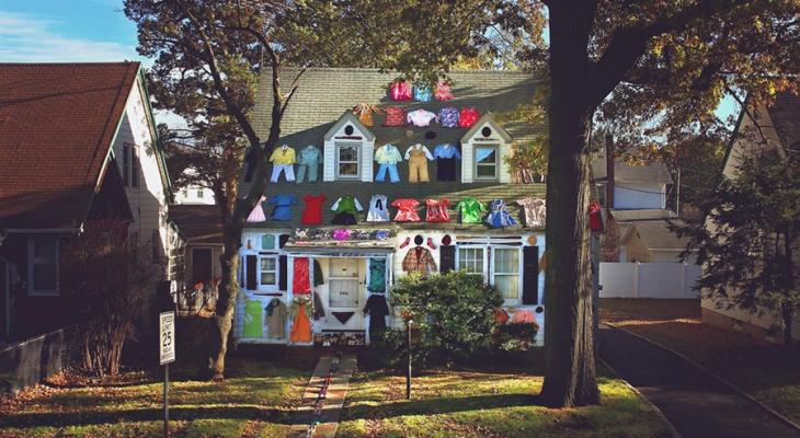
<instances>
[{"instance_id":1,"label":"pale house at the right edge, partly hidden behind dark tree","mask_svg":"<svg viewBox=\"0 0 800 438\"><path fill-rule=\"evenodd\" d=\"M722 175L735 178L736 169L743 159L776 148L800 150L800 96L781 93L769 107L758 106L751 107L748 112L742 111L725 153ZM702 299L702 322L744 331L756 338L772 342L781 338L779 316L768 312L752 314L738 308L727 309L725 302L717 299ZM800 315L797 314L792 324L792 338L800 339Z\"/></svg>"}]
</instances>

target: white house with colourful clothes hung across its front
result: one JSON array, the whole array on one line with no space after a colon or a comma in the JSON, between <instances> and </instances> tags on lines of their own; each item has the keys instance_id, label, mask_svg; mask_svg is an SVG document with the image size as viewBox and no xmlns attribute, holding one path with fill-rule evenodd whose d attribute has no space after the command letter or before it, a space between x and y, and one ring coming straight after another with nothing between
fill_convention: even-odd
<instances>
[{"instance_id":1,"label":"white house with colourful clothes hung across its front","mask_svg":"<svg viewBox=\"0 0 800 438\"><path fill-rule=\"evenodd\" d=\"M294 78L296 73L294 69L282 72L284 78ZM321 155L319 175L316 182L306 178L297 183L287 182L286 173L282 173L277 183L267 184L265 203L249 218L240 253L242 293L235 330L238 343L363 344L372 318L363 312L367 300L389 292L391 285L409 272L466 269L481 274L500 289L512 313L525 311L536 314L540 324L544 322L544 273L538 267L545 250L544 223L528 227L525 211L516 201L544 199L545 185L513 183L506 162L514 147L532 141L541 127L512 122L501 125L495 118L496 114L529 103L537 81L528 73L512 71L449 74L455 99L447 102L392 101L388 90L396 76L378 70L311 68L302 74L282 123L275 164L279 164L281 157L292 154L288 147L300 157L302 149L312 146ZM268 74L262 78L252 116L262 138L266 138L271 124L270 81ZM351 112L359 104L380 108L379 113L370 113L372 126ZM470 127L443 127L442 120L420 113L420 124L430 122L430 126L412 126L402 115L402 126L382 126L390 107L436 114L444 107L475 107L479 117ZM397 183L390 182L391 166L375 161L376 152L387 143L405 157L397 163ZM433 161L421 149L409 151L418 143L430 151L437 145L449 143L460 152L460 160ZM283 149L284 145L287 149ZM407 152L413 157L411 161ZM294 173L295 168L300 171L296 164L284 163L284 169L275 172ZM413 174L410 168L414 169ZM430 181L420 174L423 168L427 169ZM389 176L381 182L379 176L387 169ZM312 173L310 166L304 172ZM252 165L243 173L241 193L247 192L255 174ZM422 182L410 182L410 177ZM491 228L482 222L484 215L479 217L479 223L464 223L456 205L468 198L485 209L492 199L503 199L518 224ZM338 215L332 207L345 209L348 205L357 210L354 199L362 207L354 211L355 223L334 224ZM366 221L370 200L375 209L385 210L380 207L399 199L419 201L419 206L403 200L400 205L409 214L419 214L421 220L397 221L398 211L391 207L389 221ZM427 199L447 199L447 207L433 209L439 214L447 211L449 220L427 220ZM319 203L320 217L316 217L312 210ZM273 208L276 204L278 207ZM312 218L312 224L304 224L309 222L304 215ZM432 219L436 217L442 218L434 215ZM345 218L339 216L346 223ZM202 243L190 244L187 253L202 247ZM207 254L193 253L194 263L198 255L205 261ZM308 292L313 292L313 297ZM299 307L297 299L301 301L304 297L317 301L312 338L293 338L289 333L296 321L292 319L281 327L273 325L278 333L268 327L266 321L274 313L267 308ZM389 324L402 324L397 315L389 320Z\"/></svg>"}]
</instances>

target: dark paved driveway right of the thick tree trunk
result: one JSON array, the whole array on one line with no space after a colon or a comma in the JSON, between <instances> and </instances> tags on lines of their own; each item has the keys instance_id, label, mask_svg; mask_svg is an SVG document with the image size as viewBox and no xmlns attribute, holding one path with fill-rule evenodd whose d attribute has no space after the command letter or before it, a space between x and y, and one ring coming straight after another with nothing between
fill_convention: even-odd
<instances>
[{"instance_id":1,"label":"dark paved driveway right of the thick tree trunk","mask_svg":"<svg viewBox=\"0 0 800 438\"><path fill-rule=\"evenodd\" d=\"M800 433L683 358L601 325L601 357L656 405L683 438L799 438Z\"/></svg>"}]
</instances>

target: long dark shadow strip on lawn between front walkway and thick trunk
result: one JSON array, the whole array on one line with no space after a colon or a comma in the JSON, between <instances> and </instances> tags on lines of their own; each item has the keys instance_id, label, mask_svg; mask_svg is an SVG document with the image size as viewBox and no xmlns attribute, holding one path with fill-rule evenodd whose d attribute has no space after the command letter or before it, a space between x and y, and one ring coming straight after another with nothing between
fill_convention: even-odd
<instances>
[{"instance_id":1,"label":"long dark shadow strip on lawn between front walkway and thick trunk","mask_svg":"<svg viewBox=\"0 0 800 438\"><path fill-rule=\"evenodd\" d=\"M409 415L439 415L458 412L492 410L502 407L542 406L538 395L532 394L487 394L462 397L434 397L385 402L377 406L350 405L343 408L342 418L385 419Z\"/></svg>"}]
</instances>

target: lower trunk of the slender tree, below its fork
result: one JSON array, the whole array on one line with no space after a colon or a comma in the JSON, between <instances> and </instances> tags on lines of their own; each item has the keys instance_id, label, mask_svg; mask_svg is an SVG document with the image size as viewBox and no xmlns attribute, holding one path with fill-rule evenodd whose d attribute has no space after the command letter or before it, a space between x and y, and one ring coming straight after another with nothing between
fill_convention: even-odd
<instances>
[{"instance_id":1,"label":"lower trunk of the slender tree, below its fork","mask_svg":"<svg viewBox=\"0 0 800 438\"><path fill-rule=\"evenodd\" d=\"M222 281L219 285L217 311L214 315L214 334L217 348L212 359L212 379L215 381L222 380L225 376L225 355L228 353L228 337L233 322L236 300L239 296L238 272L241 235L241 226L229 226L225 232L225 249L219 257L222 267Z\"/></svg>"}]
</instances>

